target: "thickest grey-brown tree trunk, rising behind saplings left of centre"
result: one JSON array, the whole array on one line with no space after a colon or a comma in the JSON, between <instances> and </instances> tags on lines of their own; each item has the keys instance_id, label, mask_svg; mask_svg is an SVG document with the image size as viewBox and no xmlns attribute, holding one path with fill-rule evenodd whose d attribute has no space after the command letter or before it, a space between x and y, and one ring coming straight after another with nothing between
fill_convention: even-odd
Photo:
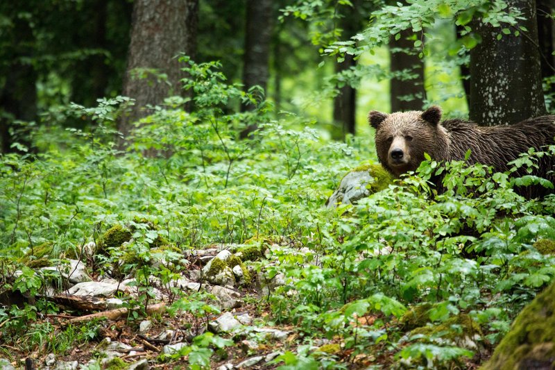
<instances>
[{"instance_id":1,"label":"thickest grey-brown tree trunk, rising behind saplings left of centre","mask_svg":"<svg viewBox=\"0 0 555 370\"><path fill-rule=\"evenodd\" d=\"M135 1L123 78L123 95L135 99L135 106L119 121L118 129L124 137L133 121L150 113L146 105L160 104L171 94L183 94L180 83L183 66L176 56L194 52L197 10L198 0ZM151 70L146 78L136 78L135 69Z\"/></svg>"}]
</instances>

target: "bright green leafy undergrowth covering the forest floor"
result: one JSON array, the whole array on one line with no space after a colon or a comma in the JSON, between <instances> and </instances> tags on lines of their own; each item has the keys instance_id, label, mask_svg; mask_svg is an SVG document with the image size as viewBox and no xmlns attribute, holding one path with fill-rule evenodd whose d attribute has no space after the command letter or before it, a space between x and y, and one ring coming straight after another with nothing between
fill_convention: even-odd
<instances>
[{"instance_id":1,"label":"bright green leafy undergrowth covering the forest floor","mask_svg":"<svg viewBox=\"0 0 555 370\"><path fill-rule=\"evenodd\" d=\"M81 255L94 242L96 254L83 262L120 281L135 277L138 298L128 299L130 307L146 308L157 284L173 294L172 315L192 315L188 329L200 336L165 360L187 355L200 369L230 342L204 331L219 313L213 298L187 295L172 283L185 271L189 251L240 244L230 263L255 266L259 283L268 285L271 319L293 323L307 341L334 339L344 351L322 358L307 345L276 360L294 369L318 367L322 359L323 367L341 368L345 358L364 353L424 365L462 363L471 354L460 343L402 346L416 326L402 317L425 308L416 314L418 327L450 328L457 327L450 320L469 317L480 325L477 340L495 343L555 276L554 255L533 246L555 239L554 197L519 196L513 187L521 184L520 172L491 174L482 165L427 160L416 174L357 205L328 210L323 204L341 176L375 160L373 145L361 138L327 143L311 122L274 114L256 92L226 83L218 68L187 60L196 110L185 112L184 99L168 99L137 124L123 153L115 149L113 128L127 102L116 99L70 106L57 116L59 125L37 128L37 154L2 155L3 287L35 296L48 276L21 258L39 258L48 246L43 256L54 262L68 251ZM239 112L241 101L254 109ZM95 126L63 130L75 115ZM240 140L250 124L259 130ZM514 165L533 167L537 158L525 153ZM430 185L435 176L443 176L440 189ZM61 338L96 338L94 326L67 328L66 337L47 344L52 328L29 323L51 309L44 303L3 308L0 326L12 343L22 337L29 346L59 352L65 351ZM407 326L391 325L398 319Z\"/></svg>"}]
</instances>

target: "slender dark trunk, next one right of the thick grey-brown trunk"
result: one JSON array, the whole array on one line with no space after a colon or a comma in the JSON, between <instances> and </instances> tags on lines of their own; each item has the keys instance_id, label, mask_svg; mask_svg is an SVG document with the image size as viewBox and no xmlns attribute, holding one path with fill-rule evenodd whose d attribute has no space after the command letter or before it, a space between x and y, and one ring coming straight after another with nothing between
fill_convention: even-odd
<instances>
[{"instance_id":1,"label":"slender dark trunk, next one right of the thick grey-brown trunk","mask_svg":"<svg viewBox=\"0 0 555 370\"><path fill-rule=\"evenodd\" d=\"M253 86L260 86L266 92L268 84L270 42L273 26L273 7L271 0L247 0L245 56L243 65L243 85L245 91ZM241 110L250 110L252 105L241 105ZM255 131L256 125L250 125L241 137L248 137Z\"/></svg>"}]
</instances>

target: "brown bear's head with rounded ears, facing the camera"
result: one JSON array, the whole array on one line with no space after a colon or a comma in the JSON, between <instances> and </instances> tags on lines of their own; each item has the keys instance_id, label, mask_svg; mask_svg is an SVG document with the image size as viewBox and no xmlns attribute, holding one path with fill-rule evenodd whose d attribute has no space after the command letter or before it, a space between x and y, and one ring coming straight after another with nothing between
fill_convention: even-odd
<instances>
[{"instance_id":1,"label":"brown bear's head with rounded ears, facing the camera","mask_svg":"<svg viewBox=\"0 0 555 370\"><path fill-rule=\"evenodd\" d=\"M387 115L368 113L370 125L376 129L376 152L379 162L391 174L399 177L414 171L425 160L424 153L437 158L436 153L446 150L438 142L441 130L441 108L432 106L424 112L397 112Z\"/></svg>"}]
</instances>

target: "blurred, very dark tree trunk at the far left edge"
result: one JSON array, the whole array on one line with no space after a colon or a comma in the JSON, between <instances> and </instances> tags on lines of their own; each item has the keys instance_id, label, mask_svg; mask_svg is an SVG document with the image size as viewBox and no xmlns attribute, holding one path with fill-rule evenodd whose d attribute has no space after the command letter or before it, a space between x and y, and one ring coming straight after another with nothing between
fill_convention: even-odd
<instances>
[{"instance_id":1,"label":"blurred, very dark tree trunk at the far left edge","mask_svg":"<svg viewBox=\"0 0 555 370\"><path fill-rule=\"evenodd\" d=\"M1 153L17 151L12 144L17 140L28 146L25 137L12 135L14 120L34 121L37 116L37 72L31 62L34 53L33 30L26 19L17 17L12 29L13 40L18 45L0 73L6 76L0 88L0 150Z\"/></svg>"}]
</instances>

